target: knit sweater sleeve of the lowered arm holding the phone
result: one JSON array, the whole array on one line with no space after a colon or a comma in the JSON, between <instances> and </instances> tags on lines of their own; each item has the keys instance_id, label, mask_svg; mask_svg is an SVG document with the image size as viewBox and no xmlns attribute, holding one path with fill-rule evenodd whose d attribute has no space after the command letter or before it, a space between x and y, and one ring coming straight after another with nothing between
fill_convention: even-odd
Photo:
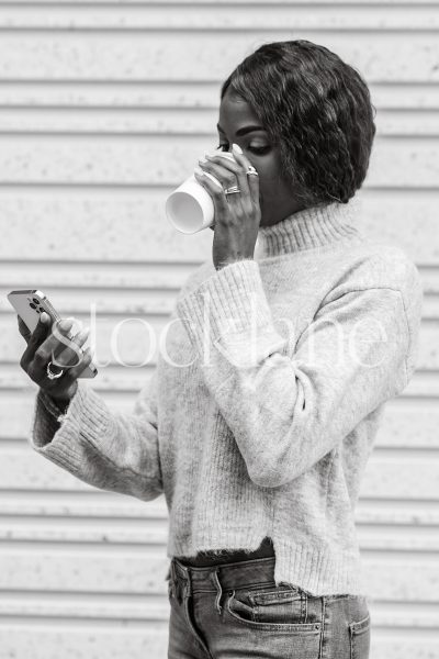
<instances>
[{"instance_id":1,"label":"knit sweater sleeve of the lowered arm holding the phone","mask_svg":"<svg viewBox=\"0 0 439 659\"><path fill-rule=\"evenodd\" d=\"M42 456L99 488L151 501L162 492L158 445L157 369L139 391L132 413L112 412L78 381L66 414L37 392L30 443Z\"/></svg>"}]
</instances>

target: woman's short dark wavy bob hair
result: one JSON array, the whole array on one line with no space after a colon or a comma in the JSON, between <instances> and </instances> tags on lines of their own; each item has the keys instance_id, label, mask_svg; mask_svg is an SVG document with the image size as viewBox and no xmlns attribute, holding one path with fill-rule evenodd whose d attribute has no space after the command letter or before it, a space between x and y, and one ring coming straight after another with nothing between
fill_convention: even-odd
<instances>
[{"instance_id":1,"label":"woman's short dark wavy bob hair","mask_svg":"<svg viewBox=\"0 0 439 659\"><path fill-rule=\"evenodd\" d=\"M279 144L282 178L305 205L348 203L365 178L376 110L361 75L306 40L267 43L223 82Z\"/></svg>"}]
</instances>

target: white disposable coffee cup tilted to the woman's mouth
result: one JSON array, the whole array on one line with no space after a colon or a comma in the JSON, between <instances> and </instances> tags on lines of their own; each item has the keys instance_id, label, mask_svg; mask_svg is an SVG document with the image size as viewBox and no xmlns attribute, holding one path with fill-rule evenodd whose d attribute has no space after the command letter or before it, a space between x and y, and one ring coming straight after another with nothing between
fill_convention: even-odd
<instances>
[{"instance_id":1,"label":"white disposable coffee cup tilted to the woman's mouth","mask_svg":"<svg viewBox=\"0 0 439 659\"><path fill-rule=\"evenodd\" d=\"M232 158L232 160L235 159L233 154L228 152L217 152L216 155ZM207 171L204 174L219 182ZM173 227L184 234L193 234L207 228L214 223L215 219L212 197L198 182L193 174L169 194L165 210Z\"/></svg>"}]
</instances>

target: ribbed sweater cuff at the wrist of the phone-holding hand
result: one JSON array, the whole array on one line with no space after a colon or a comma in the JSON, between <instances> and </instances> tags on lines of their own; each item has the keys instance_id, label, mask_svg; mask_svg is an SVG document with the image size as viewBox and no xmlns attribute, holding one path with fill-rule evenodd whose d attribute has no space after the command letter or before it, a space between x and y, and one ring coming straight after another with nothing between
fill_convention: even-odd
<instances>
[{"instance_id":1,"label":"ribbed sweater cuff at the wrist of the phone-holding hand","mask_svg":"<svg viewBox=\"0 0 439 659\"><path fill-rule=\"evenodd\" d=\"M80 473L83 451L79 443L89 442L99 447L108 439L108 409L92 389L80 383L60 422L48 411L50 404L52 399L40 389L32 420L31 446L64 469Z\"/></svg>"}]
</instances>

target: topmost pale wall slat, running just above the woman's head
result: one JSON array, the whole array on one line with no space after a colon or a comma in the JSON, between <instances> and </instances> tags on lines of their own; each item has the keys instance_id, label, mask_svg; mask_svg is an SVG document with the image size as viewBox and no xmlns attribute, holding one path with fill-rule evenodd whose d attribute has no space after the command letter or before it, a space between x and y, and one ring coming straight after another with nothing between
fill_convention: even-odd
<instances>
[{"instance_id":1,"label":"topmost pale wall slat, running just above the woman's head","mask_svg":"<svg viewBox=\"0 0 439 659\"><path fill-rule=\"evenodd\" d=\"M425 33L439 29L439 5L419 2L417 5L389 2L248 2L233 3L230 22L229 2L187 2L184 11L176 11L178 2L111 3L70 2L52 3L49 12L42 12L47 3L1 3L0 31L32 32L149 32L172 31L251 34L263 31L295 32L374 32Z\"/></svg>"}]
</instances>

